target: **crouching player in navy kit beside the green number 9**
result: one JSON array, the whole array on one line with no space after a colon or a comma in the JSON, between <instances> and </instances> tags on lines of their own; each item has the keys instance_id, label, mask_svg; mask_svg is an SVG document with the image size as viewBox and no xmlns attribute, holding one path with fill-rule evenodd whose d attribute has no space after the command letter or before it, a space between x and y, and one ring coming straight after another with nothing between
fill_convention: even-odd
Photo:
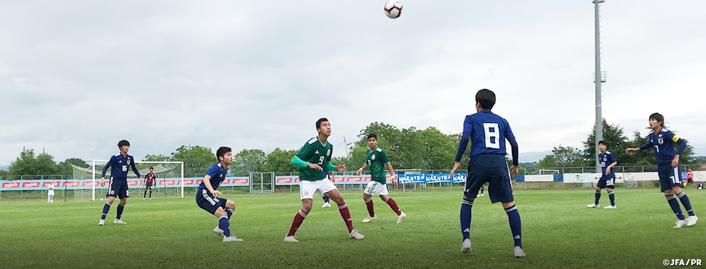
<instances>
[{"instance_id":1,"label":"crouching player in navy kit beside the green number 9","mask_svg":"<svg viewBox=\"0 0 706 269\"><path fill-rule=\"evenodd\" d=\"M241 242L243 239L230 234L229 220L235 212L235 202L221 198L218 186L225 180L228 165L233 163L233 154L229 147L221 146L216 151L218 162L211 165L203 176L201 184L196 189L196 204L201 209L218 218L218 226L213 228L213 233L223 239L223 242Z\"/></svg>"}]
</instances>

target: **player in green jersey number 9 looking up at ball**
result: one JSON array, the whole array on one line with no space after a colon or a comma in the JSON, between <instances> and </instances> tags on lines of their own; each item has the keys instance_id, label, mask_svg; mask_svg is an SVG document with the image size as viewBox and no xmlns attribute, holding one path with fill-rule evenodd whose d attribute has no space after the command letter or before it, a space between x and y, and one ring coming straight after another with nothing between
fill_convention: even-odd
<instances>
[{"instance_id":1,"label":"player in green jersey number 9 looking up at ball","mask_svg":"<svg viewBox=\"0 0 706 269\"><path fill-rule=\"evenodd\" d=\"M289 233L285 237L285 242L299 242L294 233L299 229L299 225L304 222L306 214L311 211L313 203L313 195L325 194L338 205L338 211L341 213L343 221L348 227L348 237L351 239L363 239L363 234L359 234L353 229L351 213L348 210L348 205L343 200L343 196L336 186L328 180L323 173L323 169L329 171L345 171L346 165L331 164L331 154L333 154L333 146L328 143L328 137L331 135L331 124L326 118L316 120L317 137L309 139L304 146L301 146L297 155L292 158L292 164L299 167L299 194L301 196L301 210L294 215L292 227L289 228Z\"/></svg>"}]
</instances>

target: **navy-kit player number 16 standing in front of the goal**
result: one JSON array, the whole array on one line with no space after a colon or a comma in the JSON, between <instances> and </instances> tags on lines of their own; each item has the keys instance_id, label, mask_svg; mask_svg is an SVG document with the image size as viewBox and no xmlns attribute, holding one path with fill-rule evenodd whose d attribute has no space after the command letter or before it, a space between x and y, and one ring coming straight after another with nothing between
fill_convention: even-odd
<instances>
[{"instance_id":1,"label":"navy-kit player number 16 standing in front of the goal","mask_svg":"<svg viewBox=\"0 0 706 269\"><path fill-rule=\"evenodd\" d=\"M130 196L128 192L128 166L133 170L135 175L140 177L140 180L142 180L140 171L138 171L135 167L135 158L128 155L128 151L130 150L130 142L127 142L127 140L121 140L118 142L118 148L120 149L120 153L110 157L110 161L105 164L103 172L100 174L100 185L102 186L105 181L105 173L108 168L110 168L110 187L108 188L108 193L105 194L108 199L103 205L103 213L100 215L98 225L103 225L105 223L105 217L108 215L108 211L110 210L110 206L113 204L113 201L115 201L115 197L120 199L120 203L118 204L118 211L115 215L115 220L113 220L113 223L127 224L120 218L123 215L125 204L128 202L128 196Z\"/></svg>"}]
</instances>

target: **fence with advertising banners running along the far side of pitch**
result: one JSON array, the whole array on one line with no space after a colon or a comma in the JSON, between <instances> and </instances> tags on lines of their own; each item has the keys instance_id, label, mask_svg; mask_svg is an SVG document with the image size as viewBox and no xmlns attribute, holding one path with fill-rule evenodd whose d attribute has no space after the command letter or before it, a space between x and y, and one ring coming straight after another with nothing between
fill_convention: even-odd
<instances>
[{"instance_id":1,"label":"fence with advertising banners running along the far side of pitch","mask_svg":"<svg viewBox=\"0 0 706 269\"><path fill-rule=\"evenodd\" d=\"M706 169L702 165L687 166L694 170L695 182L706 181ZM686 168L683 168L686 169ZM698 169L698 170L697 170ZM659 177L655 172L657 166L617 166L616 187L626 188L657 188ZM583 189L593 188L600 177L594 173L595 168L544 168L534 171L525 171L513 180L514 189ZM408 189L433 190L462 188L465 182L465 170L458 171L454 178L448 177L449 170L397 170L396 177L399 182L391 190L407 191ZM332 177L333 183L343 191L362 190L370 181L370 175L355 175L356 172L336 172ZM682 178L686 172L682 171ZM23 179L25 178L25 179ZM18 179L18 180L15 180ZM38 180L35 180L38 179ZM160 179L164 187L181 187L181 179ZM56 197L71 197L74 189L90 189L92 180L67 179L64 175L30 175L20 177L0 177L0 199L14 198L43 198L46 195L48 182L59 182L56 187ZM141 188L138 180L131 188ZM388 176L388 184L392 177ZM196 187L201 183L201 177L184 177L185 192L196 192ZM232 191L249 190L248 176L229 175L221 185L221 189L231 188ZM100 187L97 187L100 188ZM296 192L299 190L299 176L296 172L275 173L275 192Z\"/></svg>"}]
</instances>

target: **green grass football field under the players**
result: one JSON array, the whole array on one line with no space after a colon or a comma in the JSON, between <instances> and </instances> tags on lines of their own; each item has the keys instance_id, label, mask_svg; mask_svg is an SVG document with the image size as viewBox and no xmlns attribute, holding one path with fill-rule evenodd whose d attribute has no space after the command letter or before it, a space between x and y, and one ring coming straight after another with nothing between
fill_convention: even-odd
<instances>
[{"instance_id":1,"label":"green grass football field under the players","mask_svg":"<svg viewBox=\"0 0 706 269\"><path fill-rule=\"evenodd\" d=\"M688 191L697 214L706 192ZM473 208L471 254L460 252L458 191L393 192L407 219L380 199L378 220L360 223L360 192L344 192L354 226L348 239L335 207L314 207L282 242L301 206L298 193L233 194L233 233L222 243L217 219L184 199L129 199L123 220L97 225L102 201L0 201L0 268L660 268L664 259L706 262L706 219L672 229L676 218L658 189L616 189L616 210L586 208L592 189L517 191L526 258L513 257L513 240L500 204L487 196ZM602 206L608 205L606 194Z\"/></svg>"}]
</instances>

